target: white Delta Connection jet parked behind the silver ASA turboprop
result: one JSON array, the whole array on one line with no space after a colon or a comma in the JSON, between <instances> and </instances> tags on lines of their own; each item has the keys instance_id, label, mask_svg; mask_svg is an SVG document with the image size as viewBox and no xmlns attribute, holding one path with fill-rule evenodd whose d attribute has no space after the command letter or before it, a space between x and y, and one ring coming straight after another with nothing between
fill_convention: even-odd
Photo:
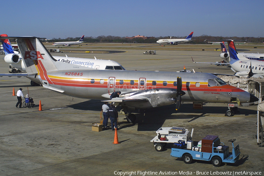
<instances>
[{"instance_id":1,"label":"white Delta Connection jet parked behind the silver ASA turboprop","mask_svg":"<svg viewBox=\"0 0 264 176\"><path fill-rule=\"evenodd\" d=\"M1 37L7 37L6 34L0 35ZM13 50L12 45L10 44L9 39L1 39L5 57L3 58L6 63L11 65L12 67L17 68L18 70L26 72L26 64L21 58L21 55L19 52ZM53 56L54 59L60 61L60 62L66 62L71 63L79 66L84 66L88 68L93 68L97 70L126 70L122 65L120 65L118 62L113 60L101 60L101 59L89 59L89 58L78 58L78 57L62 57L62 56ZM22 77L26 76L26 73L17 73L17 74L0 74L0 77L2 76L17 76ZM31 86L37 86L40 84L40 82L36 83L31 81Z\"/></svg>"}]
</instances>

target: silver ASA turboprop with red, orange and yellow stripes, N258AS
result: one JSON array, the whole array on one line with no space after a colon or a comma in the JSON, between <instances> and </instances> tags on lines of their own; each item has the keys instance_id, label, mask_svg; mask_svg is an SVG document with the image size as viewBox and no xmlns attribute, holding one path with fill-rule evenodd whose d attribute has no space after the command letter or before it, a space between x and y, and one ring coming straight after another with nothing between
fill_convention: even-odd
<instances>
[{"instance_id":1,"label":"silver ASA turboprop with red, orange and yellow stripes, N258AS","mask_svg":"<svg viewBox=\"0 0 264 176\"><path fill-rule=\"evenodd\" d=\"M0 37L0 39L3 37ZM148 109L181 101L228 103L240 105L258 101L252 94L226 84L209 73L115 71L76 68L73 64L55 60L36 37L16 39L27 67L27 77L38 80L44 88L65 95L87 99L108 99L122 106L128 121L135 121L131 110ZM112 92L121 91L119 98L109 100Z\"/></svg>"}]
</instances>

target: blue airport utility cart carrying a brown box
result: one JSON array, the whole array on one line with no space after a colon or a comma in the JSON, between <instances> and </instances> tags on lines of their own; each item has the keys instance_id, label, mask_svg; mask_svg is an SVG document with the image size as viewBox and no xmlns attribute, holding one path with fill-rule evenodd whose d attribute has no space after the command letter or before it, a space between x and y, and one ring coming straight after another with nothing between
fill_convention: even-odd
<instances>
[{"instance_id":1,"label":"blue airport utility cart carrying a brown box","mask_svg":"<svg viewBox=\"0 0 264 176\"><path fill-rule=\"evenodd\" d=\"M193 146L193 141L187 141L187 146L175 145L175 148L171 149L170 156L182 158L184 163L190 164L192 160L204 160L211 161L212 165L219 167L222 163L236 163L240 156L239 145L234 147L234 141L232 142L232 154L229 154L229 146L220 145L220 139L218 136L207 135L199 141L198 146ZM199 146L201 145L201 147Z\"/></svg>"}]
</instances>

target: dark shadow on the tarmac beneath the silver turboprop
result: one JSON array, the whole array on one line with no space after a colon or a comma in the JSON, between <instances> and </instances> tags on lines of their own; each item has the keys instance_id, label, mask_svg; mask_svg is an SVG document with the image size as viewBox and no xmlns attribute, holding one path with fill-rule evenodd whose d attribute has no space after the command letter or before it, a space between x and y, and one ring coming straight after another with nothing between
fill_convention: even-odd
<instances>
[{"instance_id":1,"label":"dark shadow on the tarmac beneath the silver turboprop","mask_svg":"<svg viewBox=\"0 0 264 176\"><path fill-rule=\"evenodd\" d=\"M101 111L104 103L101 100L88 100L77 104L68 105L68 107L79 110ZM189 119L188 122L195 121L199 118L210 116L211 114L225 115L228 108L226 106L206 106L204 103L203 109L193 109L193 104L182 104L178 111L175 110L175 105L162 106L154 109L147 109L140 112L133 112L136 115L135 123L138 123L138 131L157 131L161 128L167 119ZM121 107L117 107L118 111ZM254 115L256 110L240 109L235 115ZM188 112L188 113L187 113ZM179 113L179 114L177 114ZM186 113L186 114L180 114ZM121 124L122 123L122 124ZM121 128L134 126L133 123L120 122Z\"/></svg>"}]
</instances>

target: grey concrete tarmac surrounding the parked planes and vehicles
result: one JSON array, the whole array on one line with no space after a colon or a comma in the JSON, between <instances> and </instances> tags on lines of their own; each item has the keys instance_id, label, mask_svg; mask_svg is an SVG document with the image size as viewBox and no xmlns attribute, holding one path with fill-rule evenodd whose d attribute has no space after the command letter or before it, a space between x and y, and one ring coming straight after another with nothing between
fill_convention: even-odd
<instances>
[{"instance_id":1,"label":"grey concrete tarmac surrounding the parked planes and vehicles","mask_svg":"<svg viewBox=\"0 0 264 176\"><path fill-rule=\"evenodd\" d=\"M143 55L144 48L132 50L129 46L121 49L125 53L52 55L95 56L117 61L127 70L174 72L183 70L185 65L187 70L196 72L233 75L227 66L199 65L191 60L193 57L197 62L221 61L219 51L158 50L158 47L156 55ZM263 49L256 52L264 53ZM0 59L0 73L8 73L8 68L9 65ZM15 93L22 88L24 96L29 93L35 106L16 108L13 88ZM115 132L111 129L92 131L92 123L100 121L101 100L79 99L43 87L31 87L30 80L23 77L0 77L0 97L1 176L229 175L227 171L231 175L250 175L243 172L264 175L264 148L257 145L254 138L257 106L239 108L238 114L227 117L224 116L226 104L207 103L202 110L194 110L192 103L185 102L178 111L175 105L170 105L136 113L134 124L128 123L125 115L119 113L120 130L117 133L120 144L113 144ZM42 111L39 111L40 101ZM241 151L238 163L214 167L211 162L194 160L185 164L180 158L170 156L170 145L157 152L150 142L155 131L172 126L189 130L194 127L194 141L200 141L206 135L219 136L230 150L232 143L228 140L236 139L234 144L239 144Z\"/></svg>"}]
</instances>

